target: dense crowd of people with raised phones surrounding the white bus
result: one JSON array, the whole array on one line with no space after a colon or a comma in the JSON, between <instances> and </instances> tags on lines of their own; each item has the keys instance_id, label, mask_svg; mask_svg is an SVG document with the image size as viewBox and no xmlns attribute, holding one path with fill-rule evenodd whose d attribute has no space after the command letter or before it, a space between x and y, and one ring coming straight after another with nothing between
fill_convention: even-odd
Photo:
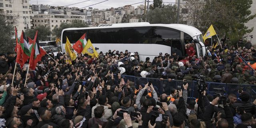
<instances>
[{"instance_id":1,"label":"dense crowd of people with raised phones surrounding the white bus","mask_svg":"<svg viewBox=\"0 0 256 128\"><path fill-rule=\"evenodd\" d=\"M223 96L207 94L206 87L197 100L188 98L187 80L194 75L206 82L256 82L249 72L249 65L256 67L250 42L234 46L222 38L221 43L208 46L206 56L196 56L191 42L185 56L160 52L146 61L128 50L100 52L98 58L78 54L72 62L58 52L44 56L36 70L17 66L15 75L16 55L0 54L0 128L255 128L256 101L243 89ZM122 75L159 82L134 83ZM160 80L183 85L165 86L160 94Z\"/></svg>"}]
</instances>

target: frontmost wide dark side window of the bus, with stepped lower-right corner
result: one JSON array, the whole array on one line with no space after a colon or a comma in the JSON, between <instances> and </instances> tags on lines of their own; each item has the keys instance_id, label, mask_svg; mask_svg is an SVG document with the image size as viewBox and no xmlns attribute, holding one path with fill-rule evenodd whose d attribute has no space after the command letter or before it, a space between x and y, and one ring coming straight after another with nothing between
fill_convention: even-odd
<instances>
[{"instance_id":1,"label":"frontmost wide dark side window of the bus, with stepped lower-right corner","mask_svg":"<svg viewBox=\"0 0 256 128\"><path fill-rule=\"evenodd\" d=\"M170 46L170 40L180 40L180 32L171 28L153 27L152 44L163 44Z\"/></svg>"}]
</instances>

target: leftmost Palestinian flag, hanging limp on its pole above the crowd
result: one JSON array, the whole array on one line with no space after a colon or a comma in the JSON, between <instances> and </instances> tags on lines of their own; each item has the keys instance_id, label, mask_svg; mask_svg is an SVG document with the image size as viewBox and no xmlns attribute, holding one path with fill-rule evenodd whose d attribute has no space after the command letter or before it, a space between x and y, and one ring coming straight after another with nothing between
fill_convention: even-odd
<instances>
[{"instance_id":1,"label":"leftmost Palestinian flag, hanging limp on its pole above the crowd","mask_svg":"<svg viewBox=\"0 0 256 128\"><path fill-rule=\"evenodd\" d=\"M26 36L22 30L21 36L20 36L20 47L21 47L21 52L22 52L22 62L23 65L25 64L26 61L28 61L30 57L30 51L29 51L29 46L28 46L28 41L26 40ZM20 66L21 68L23 66Z\"/></svg>"}]
</instances>

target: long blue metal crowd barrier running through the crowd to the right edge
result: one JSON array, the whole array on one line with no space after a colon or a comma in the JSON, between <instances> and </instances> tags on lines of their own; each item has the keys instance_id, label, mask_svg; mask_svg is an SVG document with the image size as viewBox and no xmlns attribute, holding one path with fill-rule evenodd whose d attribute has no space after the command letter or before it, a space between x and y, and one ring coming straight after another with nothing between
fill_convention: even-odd
<instances>
[{"instance_id":1,"label":"long blue metal crowd barrier running through the crowd to the right edge","mask_svg":"<svg viewBox=\"0 0 256 128\"><path fill-rule=\"evenodd\" d=\"M151 80L154 89L158 93L158 95L161 95L163 93L166 93L167 95L170 95L171 90L174 88L176 89L178 86L181 86L183 89L183 81L182 80L171 80L170 82L167 79L160 80L157 78L142 78L142 77L135 77L135 76L127 76L127 75L121 75L122 78L124 78L124 81L127 82L127 80L134 82L135 88L138 89L138 86L140 84L146 84L148 83L148 80ZM117 75L114 75L114 84L118 84ZM256 85L246 85L246 84L226 84L226 83L216 83L216 82L206 82L208 85L208 88L206 92L208 94L216 95L216 94L222 94L224 96L227 96L230 93L238 94L238 90L240 88L243 88L243 91L246 91L251 96L251 101L253 102L254 99L256 99ZM188 81L188 98L189 99L195 99L198 98L198 84L196 81Z\"/></svg>"}]
</instances>

